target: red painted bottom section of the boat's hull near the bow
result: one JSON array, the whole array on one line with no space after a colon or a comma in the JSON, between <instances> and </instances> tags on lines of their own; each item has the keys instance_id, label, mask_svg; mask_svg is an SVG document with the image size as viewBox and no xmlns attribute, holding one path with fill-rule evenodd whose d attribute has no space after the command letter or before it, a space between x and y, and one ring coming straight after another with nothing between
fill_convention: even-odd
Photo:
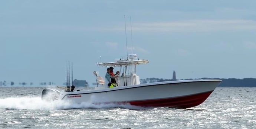
<instances>
[{"instance_id":1,"label":"red painted bottom section of the boat's hull near the bow","mask_svg":"<svg viewBox=\"0 0 256 129\"><path fill-rule=\"evenodd\" d=\"M129 104L140 107L175 107L191 108L203 103L213 91L207 93L157 100L129 101Z\"/></svg>"}]
</instances>

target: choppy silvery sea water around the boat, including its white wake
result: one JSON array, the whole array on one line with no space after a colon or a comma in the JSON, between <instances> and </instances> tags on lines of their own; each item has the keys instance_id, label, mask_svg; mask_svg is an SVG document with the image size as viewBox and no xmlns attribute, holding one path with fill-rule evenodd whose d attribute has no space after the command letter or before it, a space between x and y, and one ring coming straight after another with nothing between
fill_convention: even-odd
<instances>
[{"instance_id":1,"label":"choppy silvery sea water around the boat, including its white wake","mask_svg":"<svg viewBox=\"0 0 256 129\"><path fill-rule=\"evenodd\" d=\"M0 87L3 129L255 129L256 87L217 87L189 109L41 100L43 87Z\"/></svg>"}]
</instances>

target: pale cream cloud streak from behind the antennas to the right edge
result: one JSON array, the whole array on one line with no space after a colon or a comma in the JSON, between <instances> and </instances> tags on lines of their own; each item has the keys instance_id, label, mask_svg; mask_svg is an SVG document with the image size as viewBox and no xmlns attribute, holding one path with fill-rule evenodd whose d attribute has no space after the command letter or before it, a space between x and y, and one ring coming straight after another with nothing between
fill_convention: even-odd
<instances>
[{"instance_id":1,"label":"pale cream cloud streak from behind the antennas to the right edge","mask_svg":"<svg viewBox=\"0 0 256 129\"><path fill-rule=\"evenodd\" d=\"M124 31L124 27L102 28L101 31ZM97 29L99 30L99 29ZM256 30L253 20L181 20L172 22L134 23L132 30L137 32L207 32Z\"/></svg>"}]
</instances>

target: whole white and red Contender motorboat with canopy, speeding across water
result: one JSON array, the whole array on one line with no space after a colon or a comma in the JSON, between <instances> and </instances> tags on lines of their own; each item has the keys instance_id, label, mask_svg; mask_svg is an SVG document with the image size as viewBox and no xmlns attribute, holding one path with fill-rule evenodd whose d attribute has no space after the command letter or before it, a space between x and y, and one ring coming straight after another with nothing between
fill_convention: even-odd
<instances>
[{"instance_id":1,"label":"whole white and red Contender motorboat with canopy, speeding across water","mask_svg":"<svg viewBox=\"0 0 256 129\"><path fill-rule=\"evenodd\" d=\"M156 83L140 84L140 77L136 74L136 66L147 64L149 61L137 59L136 54L130 54L128 59L116 62L97 63L98 66L120 68L122 76L117 79L118 86L109 88L105 80L97 74L98 87L92 90L69 90L60 92L46 88L42 92L42 99L47 93L56 93L57 100L68 100L75 103L134 105L140 107L171 107L191 108L203 103L221 80L176 80Z\"/></svg>"}]
</instances>

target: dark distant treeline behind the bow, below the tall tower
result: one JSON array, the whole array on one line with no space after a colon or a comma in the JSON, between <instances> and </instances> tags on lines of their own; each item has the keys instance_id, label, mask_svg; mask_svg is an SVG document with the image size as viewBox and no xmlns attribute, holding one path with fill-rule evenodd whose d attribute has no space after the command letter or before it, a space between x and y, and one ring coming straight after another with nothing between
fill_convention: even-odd
<instances>
[{"instance_id":1,"label":"dark distant treeline behind the bow, below the tall tower","mask_svg":"<svg viewBox=\"0 0 256 129\"><path fill-rule=\"evenodd\" d=\"M244 79L220 79L220 78L200 78L200 79L219 79L222 82L219 84L219 87L256 87L256 79L254 78L244 78ZM182 79L189 80L189 79ZM173 79L158 79L158 78L147 78L140 79L141 83L154 83L161 81L174 81Z\"/></svg>"}]
</instances>

